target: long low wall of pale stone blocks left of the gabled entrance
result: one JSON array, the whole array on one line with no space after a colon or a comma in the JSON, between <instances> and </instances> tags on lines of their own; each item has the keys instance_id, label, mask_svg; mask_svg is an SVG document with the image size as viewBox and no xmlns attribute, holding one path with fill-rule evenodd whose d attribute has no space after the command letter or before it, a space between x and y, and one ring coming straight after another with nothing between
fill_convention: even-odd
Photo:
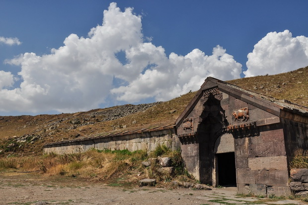
<instances>
[{"instance_id":1,"label":"long low wall of pale stone blocks left of the gabled entrance","mask_svg":"<svg viewBox=\"0 0 308 205\"><path fill-rule=\"evenodd\" d=\"M88 149L110 149L129 151L154 151L158 145L166 145L172 150L181 146L174 128L147 131L142 133L118 134L114 136L89 137L78 140L47 144L44 153L67 154L85 152Z\"/></svg>"}]
</instances>

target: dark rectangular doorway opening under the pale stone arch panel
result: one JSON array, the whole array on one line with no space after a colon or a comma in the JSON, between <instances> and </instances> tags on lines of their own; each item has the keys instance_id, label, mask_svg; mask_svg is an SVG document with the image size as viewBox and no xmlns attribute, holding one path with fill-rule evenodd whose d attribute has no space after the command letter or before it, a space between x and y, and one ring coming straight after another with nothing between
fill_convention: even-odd
<instances>
[{"instance_id":1,"label":"dark rectangular doorway opening under the pale stone arch panel","mask_svg":"<svg viewBox=\"0 0 308 205\"><path fill-rule=\"evenodd\" d=\"M234 152L217 154L218 184L236 187L236 170Z\"/></svg>"}]
</instances>

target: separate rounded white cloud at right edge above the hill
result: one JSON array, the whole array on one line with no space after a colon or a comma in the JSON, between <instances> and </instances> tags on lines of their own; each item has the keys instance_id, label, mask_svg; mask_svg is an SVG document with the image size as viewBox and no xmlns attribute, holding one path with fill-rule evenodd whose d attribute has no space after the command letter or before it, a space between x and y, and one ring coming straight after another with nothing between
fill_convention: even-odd
<instances>
[{"instance_id":1,"label":"separate rounded white cloud at right edge above the hill","mask_svg":"<svg viewBox=\"0 0 308 205\"><path fill-rule=\"evenodd\" d=\"M270 32L247 55L246 77L278 74L308 65L308 38L292 37L289 30Z\"/></svg>"}]
</instances>

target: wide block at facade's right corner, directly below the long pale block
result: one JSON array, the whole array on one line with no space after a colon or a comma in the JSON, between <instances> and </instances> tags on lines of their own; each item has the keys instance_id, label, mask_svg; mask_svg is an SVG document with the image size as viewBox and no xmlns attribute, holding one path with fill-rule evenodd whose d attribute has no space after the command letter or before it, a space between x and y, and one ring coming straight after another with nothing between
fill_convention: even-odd
<instances>
[{"instance_id":1,"label":"wide block at facade's right corner, directly below the long pale block","mask_svg":"<svg viewBox=\"0 0 308 205\"><path fill-rule=\"evenodd\" d=\"M256 184L267 186L288 186L288 170L254 171Z\"/></svg>"}]
</instances>

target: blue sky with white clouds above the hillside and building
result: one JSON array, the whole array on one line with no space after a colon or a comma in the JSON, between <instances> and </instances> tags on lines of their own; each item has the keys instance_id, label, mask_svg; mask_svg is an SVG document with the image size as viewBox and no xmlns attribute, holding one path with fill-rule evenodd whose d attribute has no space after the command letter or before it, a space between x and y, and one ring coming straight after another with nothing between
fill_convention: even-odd
<instances>
[{"instance_id":1,"label":"blue sky with white clouds above the hillside and building","mask_svg":"<svg viewBox=\"0 0 308 205\"><path fill-rule=\"evenodd\" d=\"M0 0L0 115L167 101L208 76L307 66L307 8L307 0Z\"/></svg>"}]
</instances>

